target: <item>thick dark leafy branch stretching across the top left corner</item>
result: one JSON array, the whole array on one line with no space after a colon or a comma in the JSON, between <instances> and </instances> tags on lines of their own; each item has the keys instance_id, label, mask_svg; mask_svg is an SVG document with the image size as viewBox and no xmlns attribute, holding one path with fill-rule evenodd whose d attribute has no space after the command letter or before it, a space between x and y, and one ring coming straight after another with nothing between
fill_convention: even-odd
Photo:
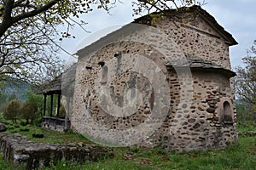
<instances>
[{"instance_id":1,"label":"thick dark leafy branch stretching across the top left corner","mask_svg":"<svg viewBox=\"0 0 256 170\"><path fill-rule=\"evenodd\" d=\"M103 0L1 0L0 1L0 37L10 26L16 26L27 18L37 16L40 23L59 25L69 23L72 17L88 13L97 8L108 10L110 1ZM37 22L39 24L39 22Z\"/></svg>"}]
</instances>

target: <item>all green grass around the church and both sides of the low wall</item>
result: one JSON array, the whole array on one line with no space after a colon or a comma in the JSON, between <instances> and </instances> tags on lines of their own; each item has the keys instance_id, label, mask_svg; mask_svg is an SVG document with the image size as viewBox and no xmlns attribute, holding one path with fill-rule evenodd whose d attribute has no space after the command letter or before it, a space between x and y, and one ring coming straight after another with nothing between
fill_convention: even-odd
<instances>
[{"instance_id":1,"label":"all green grass around the church and both sides of the low wall","mask_svg":"<svg viewBox=\"0 0 256 170\"><path fill-rule=\"evenodd\" d=\"M254 130L254 125L239 127L241 131ZM241 125L240 125L241 126ZM29 129L28 132L20 129ZM73 133L58 133L41 127L22 127L9 125L9 132L26 135L35 142L45 143L73 143L83 142L91 144L88 139ZM44 139L33 139L32 133L44 133ZM44 167L44 170L131 170L131 169L256 169L256 139L255 137L241 136L238 143L230 145L225 150L192 151L177 153L161 149L140 150L137 148L113 148L114 158L91 163L67 163L60 161L56 165ZM12 169L10 164L3 161L0 154L0 170Z\"/></svg>"}]
</instances>

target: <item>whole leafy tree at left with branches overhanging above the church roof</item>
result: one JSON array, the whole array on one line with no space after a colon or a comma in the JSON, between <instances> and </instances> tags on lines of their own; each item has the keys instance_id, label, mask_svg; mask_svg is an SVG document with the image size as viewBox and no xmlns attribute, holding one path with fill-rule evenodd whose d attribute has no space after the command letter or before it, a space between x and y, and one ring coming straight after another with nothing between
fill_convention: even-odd
<instances>
[{"instance_id":1,"label":"whole leafy tree at left with branches overhanging above the church roof","mask_svg":"<svg viewBox=\"0 0 256 170\"><path fill-rule=\"evenodd\" d=\"M116 3L116 0L0 0L0 80L7 75L40 79L60 62L59 40L73 37L70 33L73 26L84 29L86 23L75 18L94 8L109 12ZM195 0L137 0L133 2L133 11L141 14L143 9L149 13L193 4ZM56 26L63 24L67 31L60 34Z\"/></svg>"}]
</instances>

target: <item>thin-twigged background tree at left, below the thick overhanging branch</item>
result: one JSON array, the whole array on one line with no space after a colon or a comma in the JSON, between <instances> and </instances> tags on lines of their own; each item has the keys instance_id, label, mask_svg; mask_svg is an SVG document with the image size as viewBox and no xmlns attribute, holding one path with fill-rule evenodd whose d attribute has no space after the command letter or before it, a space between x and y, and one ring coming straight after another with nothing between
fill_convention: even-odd
<instances>
[{"instance_id":1,"label":"thin-twigged background tree at left, below the thick overhanging branch","mask_svg":"<svg viewBox=\"0 0 256 170\"><path fill-rule=\"evenodd\" d=\"M56 45L44 37L53 34L47 26L26 28L19 25L10 28L7 34L0 39L0 80L6 81L11 76L38 81L44 71L61 62Z\"/></svg>"}]
</instances>

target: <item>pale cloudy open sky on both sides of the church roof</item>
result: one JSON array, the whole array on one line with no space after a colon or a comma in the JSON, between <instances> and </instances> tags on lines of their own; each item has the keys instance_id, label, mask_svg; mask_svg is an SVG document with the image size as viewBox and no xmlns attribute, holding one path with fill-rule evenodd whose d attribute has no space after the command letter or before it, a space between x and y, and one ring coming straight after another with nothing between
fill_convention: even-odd
<instances>
[{"instance_id":1,"label":"pale cloudy open sky on both sides of the church roof","mask_svg":"<svg viewBox=\"0 0 256 170\"><path fill-rule=\"evenodd\" d=\"M230 47L230 62L233 70L241 65L241 58L247 56L247 49L256 40L256 0L206 0L202 8L217 20L220 26L236 39L238 45ZM130 23L139 16L132 16L130 0L122 0L115 8L107 14L103 10L94 10L90 14L84 14L79 20L84 20L88 24L84 26L87 31L83 31L78 26L72 31L75 39L66 39L61 43L61 47L69 53L74 54L78 48L85 47L93 42L94 37L101 37L107 31L112 31L117 27ZM62 52L62 58L73 60L74 58Z\"/></svg>"}]
</instances>

